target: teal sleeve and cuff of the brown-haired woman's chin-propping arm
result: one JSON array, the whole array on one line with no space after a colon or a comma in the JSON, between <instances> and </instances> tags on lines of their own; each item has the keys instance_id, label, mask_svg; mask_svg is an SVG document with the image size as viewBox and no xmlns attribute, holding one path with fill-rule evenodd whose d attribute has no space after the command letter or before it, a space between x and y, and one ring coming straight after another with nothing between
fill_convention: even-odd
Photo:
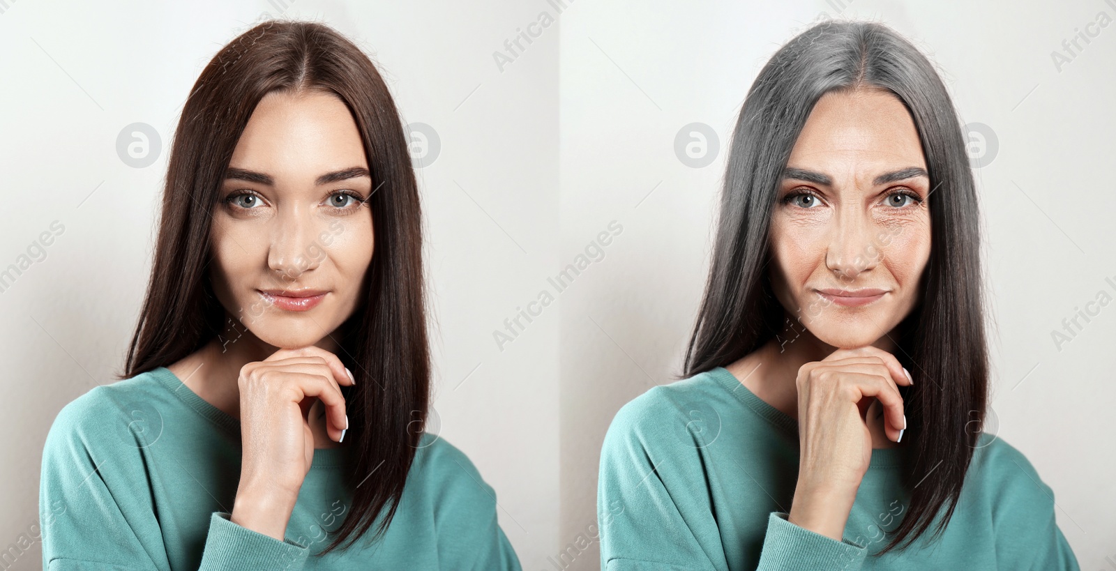
<instances>
[{"instance_id":1,"label":"teal sleeve and cuff of the brown-haired woman's chin-propping arm","mask_svg":"<svg viewBox=\"0 0 1116 571\"><path fill-rule=\"evenodd\" d=\"M39 486L42 565L170 571L143 446L129 417L97 387L62 407L47 434ZM308 549L214 513L202 570L301 569Z\"/></svg>"}]
</instances>

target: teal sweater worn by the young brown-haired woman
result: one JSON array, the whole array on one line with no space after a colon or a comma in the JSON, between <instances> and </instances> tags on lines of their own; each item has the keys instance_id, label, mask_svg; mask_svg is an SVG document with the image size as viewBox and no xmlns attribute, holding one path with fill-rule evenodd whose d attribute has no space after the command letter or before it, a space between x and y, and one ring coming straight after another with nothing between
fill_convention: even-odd
<instances>
[{"instance_id":1,"label":"teal sweater worn by the young brown-haired woman","mask_svg":"<svg viewBox=\"0 0 1116 571\"><path fill-rule=\"evenodd\" d=\"M164 367L95 387L66 405L47 435L44 569L519 570L492 487L444 438L426 434L421 446L385 535L316 558L348 514L347 448L314 451L279 541L229 520L239 420Z\"/></svg>"}]
</instances>

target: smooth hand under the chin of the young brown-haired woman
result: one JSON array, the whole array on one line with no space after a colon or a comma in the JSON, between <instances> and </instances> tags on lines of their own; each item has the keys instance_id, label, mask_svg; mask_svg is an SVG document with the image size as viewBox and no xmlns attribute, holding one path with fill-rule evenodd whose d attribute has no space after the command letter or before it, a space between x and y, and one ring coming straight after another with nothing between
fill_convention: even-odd
<instances>
[{"instance_id":1,"label":"smooth hand under the chin of the young brown-haired woman","mask_svg":"<svg viewBox=\"0 0 1116 571\"><path fill-rule=\"evenodd\" d=\"M283 539L287 522L314 462L307 418L315 398L326 408L326 430L340 441L348 428L340 385L354 381L336 355L318 347L280 349L240 369L243 456L232 521Z\"/></svg>"}]
</instances>

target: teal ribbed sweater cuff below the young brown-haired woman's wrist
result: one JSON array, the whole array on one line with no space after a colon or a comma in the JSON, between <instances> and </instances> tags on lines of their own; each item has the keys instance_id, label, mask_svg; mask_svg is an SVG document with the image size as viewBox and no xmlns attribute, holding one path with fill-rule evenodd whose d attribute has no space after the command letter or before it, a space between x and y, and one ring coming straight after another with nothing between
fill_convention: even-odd
<instances>
[{"instance_id":1,"label":"teal ribbed sweater cuff below the young brown-haired woman's wrist","mask_svg":"<svg viewBox=\"0 0 1116 571\"><path fill-rule=\"evenodd\" d=\"M310 553L309 548L249 530L233 523L231 516L227 512L213 512L210 515L201 570L302 569Z\"/></svg>"}]
</instances>

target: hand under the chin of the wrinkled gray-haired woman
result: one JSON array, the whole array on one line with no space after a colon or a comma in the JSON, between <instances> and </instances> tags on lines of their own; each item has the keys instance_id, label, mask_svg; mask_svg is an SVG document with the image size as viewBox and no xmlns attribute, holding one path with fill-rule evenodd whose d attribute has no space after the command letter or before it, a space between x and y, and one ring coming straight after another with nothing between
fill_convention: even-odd
<instances>
[{"instance_id":1,"label":"hand under the chin of the wrinkled gray-haired woman","mask_svg":"<svg viewBox=\"0 0 1116 571\"><path fill-rule=\"evenodd\" d=\"M796 384L801 452L790 521L840 541L872 462L865 414L878 399L885 434L897 441L906 428L898 385L913 383L895 356L868 346L802 365Z\"/></svg>"}]
</instances>

